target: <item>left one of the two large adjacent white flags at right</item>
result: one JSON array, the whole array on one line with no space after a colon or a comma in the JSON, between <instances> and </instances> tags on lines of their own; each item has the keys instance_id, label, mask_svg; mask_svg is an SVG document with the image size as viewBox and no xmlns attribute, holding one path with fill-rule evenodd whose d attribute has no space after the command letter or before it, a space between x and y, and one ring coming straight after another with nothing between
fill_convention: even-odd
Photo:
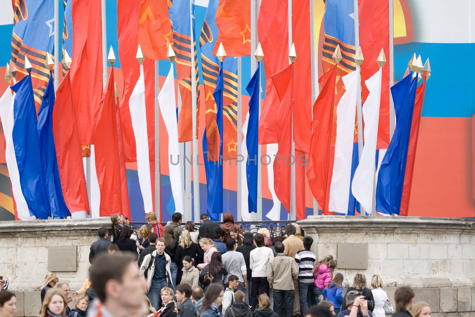
<instances>
[{"instance_id":1,"label":"left one of the two large adjacent white flags at right","mask_svg":"<svg viewBox=\"0 0 475 317\"><path fill-rule=\"evenodd\" d=\"M328 208L339 213L348 213L359 76L354 71L342 77L346 91L336 107L335 160Z\"/></svg>"}]
</instances>

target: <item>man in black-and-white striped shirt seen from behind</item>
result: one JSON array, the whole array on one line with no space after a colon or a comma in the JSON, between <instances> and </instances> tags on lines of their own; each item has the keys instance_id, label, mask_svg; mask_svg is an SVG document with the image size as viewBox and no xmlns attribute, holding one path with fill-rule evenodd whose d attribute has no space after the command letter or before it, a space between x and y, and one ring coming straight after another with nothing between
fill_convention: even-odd
<instances>
[{"instance_id":1,"label":"man in black-and-white striped shirt seen from behind","mask_svg":"<svg viewBox=\"0 0 475 317\"><path fill-rule=\"evenodd\" d=\"M314 288L314 275L312 270L315 265L315 253L310 251L314 239L312 237L304 237L304 250L300 250L295 254L295 262L298 265L298 281L300 293L300 310L301 315L305 316L309 307L309 296L312 298L312 289Z\"/></svg>"}]
</instances>

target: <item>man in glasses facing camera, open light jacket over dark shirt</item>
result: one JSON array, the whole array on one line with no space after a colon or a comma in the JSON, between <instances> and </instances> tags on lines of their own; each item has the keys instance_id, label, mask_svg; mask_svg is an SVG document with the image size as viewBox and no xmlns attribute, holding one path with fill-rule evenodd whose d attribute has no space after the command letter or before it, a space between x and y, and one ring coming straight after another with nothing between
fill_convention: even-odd
<instances>
[{"instance_id":1,"label":"man in glasses facing camera, open light jacket over dark shirt","mask_svg":"<svg viewBox=\"0 0 475 317\"><path fill-rule=\"evenodd\" d=\"M147 254L140 266L140 276L147 279L148 298L152 307L158 310L161 307L161 288L173 288L171 283L171 259L165 250L165 239L156 241L156 251Z\"/></svg>"}]
</instances>

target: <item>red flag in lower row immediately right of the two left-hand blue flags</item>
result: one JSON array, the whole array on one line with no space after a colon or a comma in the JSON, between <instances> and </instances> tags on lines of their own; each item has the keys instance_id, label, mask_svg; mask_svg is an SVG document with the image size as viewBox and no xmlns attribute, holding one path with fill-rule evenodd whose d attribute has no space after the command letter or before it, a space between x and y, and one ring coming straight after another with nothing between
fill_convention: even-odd
<instances>
[{"instance_id":1,"label":"red flag in lower row immediately right of the two left-hand blue flags","mask_svg":"<svg viewBox=\"0 0 475 317\"><path fill-rule=\"evenodd\" d=\"M53 135L55 139L59 178L67 208L71 213L86 211L90 214L86 180L81 156L81 144L76 123L76 111L71 93L70 72L66 73L56 91L53 109Z\"/></svg>"}]
</instances>

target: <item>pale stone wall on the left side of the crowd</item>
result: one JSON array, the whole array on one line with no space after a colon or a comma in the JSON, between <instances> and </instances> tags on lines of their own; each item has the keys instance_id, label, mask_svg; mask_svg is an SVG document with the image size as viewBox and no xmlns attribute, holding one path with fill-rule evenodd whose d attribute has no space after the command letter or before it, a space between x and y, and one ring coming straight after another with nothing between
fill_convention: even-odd
<instances>
[{"instance_id":1,"label":"pale stone wall on the left side of the crowd","mask_svg":"<svg viewBox=\"0 0 475 317\"><path fill-rule=\"evenodd\" d=\"M54 273L70 283L71 292L81 288L88 277L89 247L98 238L97 230L110 226L108 219L0 221L0 275L10 279L9 290L17 295L15 316L38 316L48 260L60 261L68 270L75 262L75 271ZM76 247L76 259L48 259L48 248L66 246Z\"/></svg>"}]
</instances>

